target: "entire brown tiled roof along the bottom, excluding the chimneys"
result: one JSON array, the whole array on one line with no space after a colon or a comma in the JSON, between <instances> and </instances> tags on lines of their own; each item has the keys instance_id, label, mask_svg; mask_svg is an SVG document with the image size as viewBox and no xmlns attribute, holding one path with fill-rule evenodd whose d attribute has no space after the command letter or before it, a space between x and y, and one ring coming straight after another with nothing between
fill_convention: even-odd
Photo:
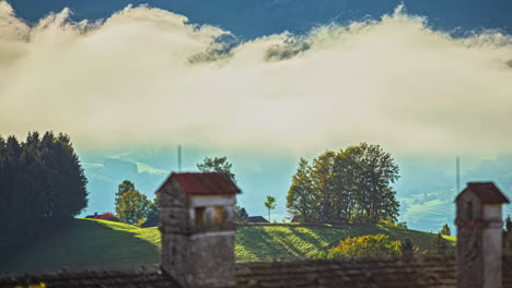
<instances>
[{"instance_id":1,"label":"entire brown tiled roof along the bottom, excluding the chimneys","mask_svg":"<svg viewBox=\"0 0 512 288\"><path fill-rule=\"evenodd\" d=\"M512 288L512 255L503 255L503 288ZM160 271L79 271L0 275L0 288L44 283L47 288L181 288ZM456 287L455 254L237 263L237 288Z\"/></svg>"}]
</instances>

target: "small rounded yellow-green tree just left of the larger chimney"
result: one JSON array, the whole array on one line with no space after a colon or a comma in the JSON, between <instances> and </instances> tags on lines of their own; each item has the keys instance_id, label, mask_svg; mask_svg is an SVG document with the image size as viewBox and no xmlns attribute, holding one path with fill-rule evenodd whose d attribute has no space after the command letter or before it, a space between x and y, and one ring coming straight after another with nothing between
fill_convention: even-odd
<instances>
[{"instance_id":1,"label":"small rounded yellow-green tree just left of the larger chimney","mask_svg":"<svg viewBox=\"0 0 512 288\"><path fill-rule=\"evenodd\" d=\"M117 207L117 217L119 220L137 225L140 219L148 217L151 202L148 197L137 190L129 190L123 194Z\"/></svg>"}]
</instances>

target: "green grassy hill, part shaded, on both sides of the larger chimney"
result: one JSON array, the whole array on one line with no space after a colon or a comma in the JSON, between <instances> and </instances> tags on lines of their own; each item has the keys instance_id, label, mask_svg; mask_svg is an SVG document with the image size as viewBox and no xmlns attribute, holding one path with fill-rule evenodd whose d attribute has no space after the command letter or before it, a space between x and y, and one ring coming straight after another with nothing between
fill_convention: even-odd
<instances>
[{"instance_id":1,"label":"green grassy hill, part shaded, on both sides of the larger chimney","mask_svg":"<svg viewBox=\"0 0 512 288\"><path fill-rule=\"evenodd\" d=\"M432 233L385 226L298 226L268 224L240 227L236 260L271 261L309 257L336 245L347 237L388 235L392 240L410 238L420 249L429 249ZM455 238L447 238L454 243ZM73 224L19 251L0 263L1 272L57 271L68 268L132 268L159 262L158 228L92 219Z\"/></svg>"}]
</instances>

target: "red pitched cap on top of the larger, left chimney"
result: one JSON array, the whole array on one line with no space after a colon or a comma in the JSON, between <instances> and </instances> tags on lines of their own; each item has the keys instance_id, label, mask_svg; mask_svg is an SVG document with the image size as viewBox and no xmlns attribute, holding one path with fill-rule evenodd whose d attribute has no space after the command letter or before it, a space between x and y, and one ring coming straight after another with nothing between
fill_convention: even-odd
<instances>
[{"instance_id":1,"label":"red pitched cap on top of the larger, left chimney","mask_svg":"<svg viewBox=\"0 0 512 288\"><path fill-rule=\"evenodd\" d=\"M162 188L172 180L176 181L185 193L191 195L224 195L241 193L233 180L231 180L226 173L221 172L173 172L158 192L160 192Z\"/></svg>"}]
</instances>

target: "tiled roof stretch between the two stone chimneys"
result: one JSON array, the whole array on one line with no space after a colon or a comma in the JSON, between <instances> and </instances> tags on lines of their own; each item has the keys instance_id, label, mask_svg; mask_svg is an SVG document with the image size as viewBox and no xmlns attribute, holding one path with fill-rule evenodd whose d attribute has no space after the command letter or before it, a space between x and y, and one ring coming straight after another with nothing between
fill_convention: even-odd
<instances>
[{"instance_id":1,"label":"tiled roof stretch between the two stone chimneys","mask_svg":"<svg viewBox=\"0 0 512 288\"><path fill-rule=\"evenodd\" d=\"M455 255L238 264L237 287L455 287Z\"/></svg>"}]
</instances>

